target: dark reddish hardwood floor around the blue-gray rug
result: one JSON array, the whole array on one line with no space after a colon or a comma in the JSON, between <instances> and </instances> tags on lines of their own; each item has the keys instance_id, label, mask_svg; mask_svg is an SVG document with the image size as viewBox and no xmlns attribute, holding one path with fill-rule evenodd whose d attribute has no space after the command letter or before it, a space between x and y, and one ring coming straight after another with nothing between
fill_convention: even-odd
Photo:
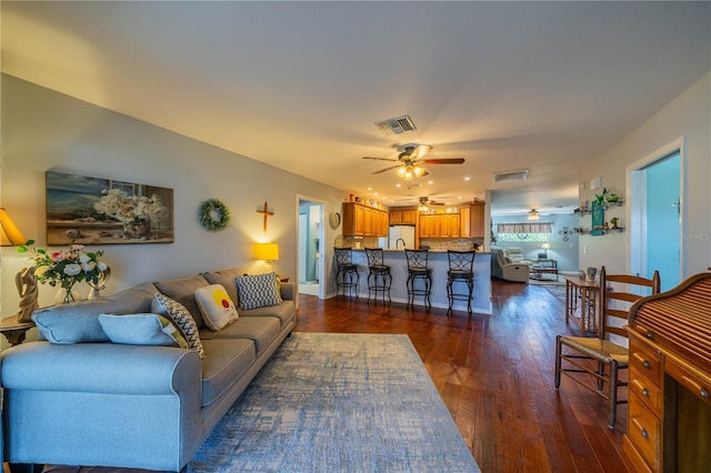
<instances>
[{"instance_id":1,"label":"dark reddish hardwood floor around the blue-gray rug","mask_svg":"<svg viewBox=\"0 0 711 473\"><path fill-rule=\"evenodd\" d=\"M563 303L540 285L494 281L492 306L448 318L301 294L296 331L407 333L484 473L627 472L627 405L610 430L604 400L567 379L555 391L555 335L574 334Z\"/></svg>"}]
</instances>

